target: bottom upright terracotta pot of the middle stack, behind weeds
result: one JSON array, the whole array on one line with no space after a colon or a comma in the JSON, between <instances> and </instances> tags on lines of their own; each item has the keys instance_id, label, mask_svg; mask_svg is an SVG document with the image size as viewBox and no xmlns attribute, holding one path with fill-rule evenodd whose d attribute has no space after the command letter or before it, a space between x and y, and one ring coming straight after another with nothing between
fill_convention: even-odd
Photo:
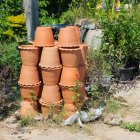
<instances>
[{"instance_id":1,"label":"bottom upright terracotta pot of the middle stack, behind weeds","mask_svg":"<svg viewBox=\"0 0 140 140\"><path fill-rule=\"evenodd\" d=\"M48 116L53 116L54 114L58 114L61 110L61 101L55 104L48 104L42 99L39 100L41 104L42 114L48 118Z\"/></svg>"}]
</instances>

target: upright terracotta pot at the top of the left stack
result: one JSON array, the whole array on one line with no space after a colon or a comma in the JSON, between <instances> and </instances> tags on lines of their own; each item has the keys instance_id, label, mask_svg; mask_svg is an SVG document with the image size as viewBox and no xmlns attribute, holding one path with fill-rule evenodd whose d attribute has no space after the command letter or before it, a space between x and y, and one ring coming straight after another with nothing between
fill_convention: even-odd
<instances>
[{"instance_id":1,"label":"upright terracotta pot at the top of the left stack","mask_svg":"<svg viewBox=\"0 0 140 140\"><path fill-rule=\"evenodd\" d=\"M40 48L33 45L21 45L18 47L23 65L36 66L40 59Z\"/></svg>"}]
</instances>

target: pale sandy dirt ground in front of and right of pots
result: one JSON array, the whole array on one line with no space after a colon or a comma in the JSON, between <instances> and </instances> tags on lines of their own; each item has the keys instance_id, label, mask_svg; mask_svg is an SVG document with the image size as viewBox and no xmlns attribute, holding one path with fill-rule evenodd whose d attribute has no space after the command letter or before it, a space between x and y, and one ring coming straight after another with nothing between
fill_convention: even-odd
<instances>
[{"instance_id":1,"label":"pale sandy dirt ground in front of and right of pots","mask_svg":"<svg viewBox=\"0 0 140 140\"><path fill-rule=\"evenodd\" d=\"M0 122L0 140L140 140L140 133L130 132L117 123L112 123L113 115L120 116L118 118L121 121L139 123L140 80L134 85L128 90L123 90L125 86L121 86L121 91L113 95L121 104L115 114L104 114L103 119L85 124L84 128L77 125L61 127L40 123L37 127L20 127L14 116L10 116Z\"/></svg>"}]
</instances>

